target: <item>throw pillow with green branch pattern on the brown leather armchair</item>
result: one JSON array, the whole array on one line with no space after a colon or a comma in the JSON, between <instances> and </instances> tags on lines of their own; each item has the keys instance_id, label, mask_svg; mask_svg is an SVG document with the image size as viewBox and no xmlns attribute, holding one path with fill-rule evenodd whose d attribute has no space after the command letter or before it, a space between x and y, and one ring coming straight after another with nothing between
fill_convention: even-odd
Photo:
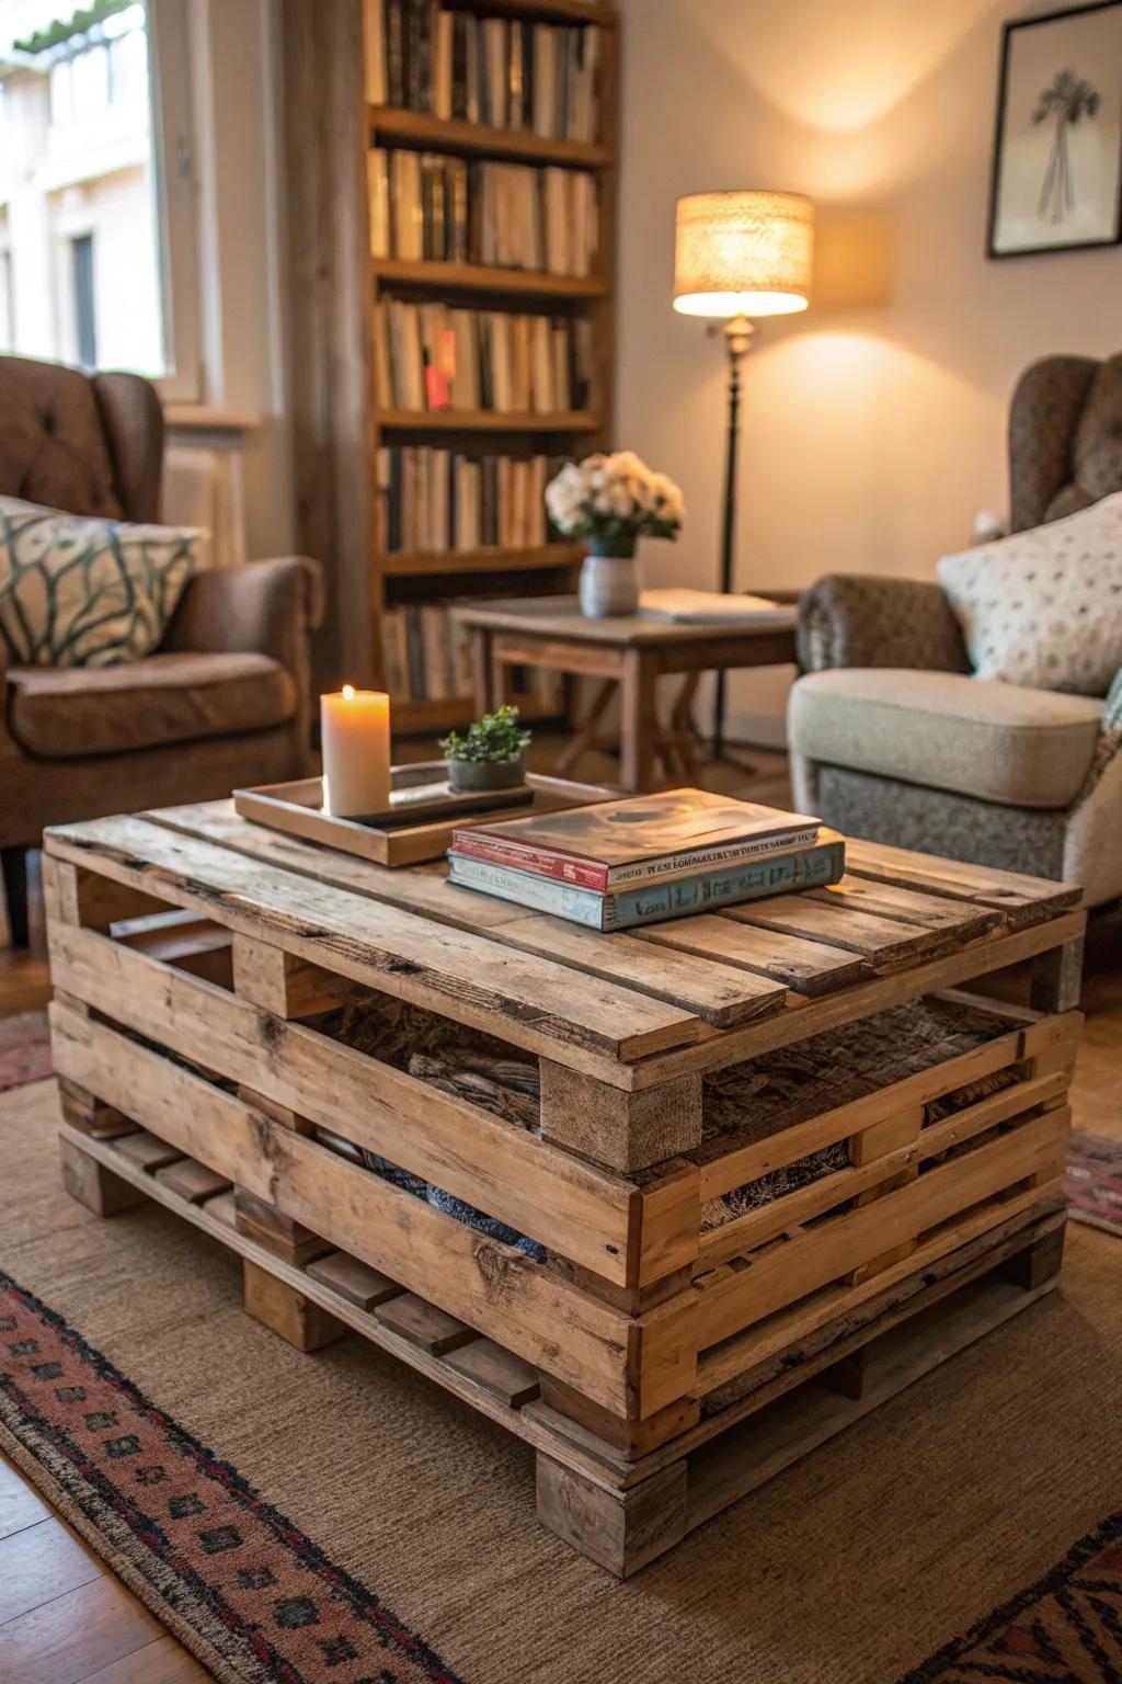
<instances>
[{"instance_id":1,"label":"throw pillow with green branch pattern on the brown leather armchair","mask_svg":"<svg viewBox=\"0 0 1122 1684\"><path fill-rule=\"evenodd\" d=\"M210 534L0 497L0 638L25 667L119 667L161 642Z\"/></svg>"}]
</instances>

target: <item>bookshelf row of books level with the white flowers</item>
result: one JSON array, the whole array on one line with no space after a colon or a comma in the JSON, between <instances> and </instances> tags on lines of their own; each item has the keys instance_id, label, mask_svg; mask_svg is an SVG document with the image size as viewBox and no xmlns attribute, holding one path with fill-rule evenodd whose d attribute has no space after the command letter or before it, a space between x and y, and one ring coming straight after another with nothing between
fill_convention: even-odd
<instances>
[{"instance_id":1,"label":"bookshelf row of books level with the white flowers","mask_svg":"<svg viewBox=\"0 0 1122 1684\"><path fill-rule=\"evenodd\" d=\"M464 456L427 445L378 450L378 530L389 552L537 549L555 534L545 487L562 456Z\"/></svg>"}]
</instances>

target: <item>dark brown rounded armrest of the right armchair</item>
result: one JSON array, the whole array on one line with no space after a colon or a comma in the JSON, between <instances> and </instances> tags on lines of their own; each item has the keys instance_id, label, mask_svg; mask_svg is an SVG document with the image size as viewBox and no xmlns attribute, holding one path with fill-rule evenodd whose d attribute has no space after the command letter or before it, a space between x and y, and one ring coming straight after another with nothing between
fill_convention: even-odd
<instances>
[{"instance_id":1,"label":"dark brown rounded armrest of the right armchair","mask_svg":"<svg viewBox=\"0 0 1122 1684\"><path fill-rule=\"evenodd\" d=\"M831 573L802 598L802 672L828 667L918 667L969 672L950 603L935 583Z\"/></svg>"}]
</instances>

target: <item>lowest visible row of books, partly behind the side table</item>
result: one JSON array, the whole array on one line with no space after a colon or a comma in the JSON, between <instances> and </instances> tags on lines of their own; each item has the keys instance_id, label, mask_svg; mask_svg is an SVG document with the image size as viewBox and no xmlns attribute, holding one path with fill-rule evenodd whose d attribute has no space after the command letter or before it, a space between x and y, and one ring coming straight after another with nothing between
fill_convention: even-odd
<instances>
[{"instance_id":1,"label":"lowest visible row of books, partly behind the side table","mask_svg":"<svg viewBox=\"0 0 1122 1684\"><path fill-rule=\"evenodd\" d=\"M468 632L454 618L454 603L405 603L382 616L385 687L390 702L444 702L471 694ZM564 706L557 672L513 672L520 695L548 712Z\"/></svg>"}]
</instances>

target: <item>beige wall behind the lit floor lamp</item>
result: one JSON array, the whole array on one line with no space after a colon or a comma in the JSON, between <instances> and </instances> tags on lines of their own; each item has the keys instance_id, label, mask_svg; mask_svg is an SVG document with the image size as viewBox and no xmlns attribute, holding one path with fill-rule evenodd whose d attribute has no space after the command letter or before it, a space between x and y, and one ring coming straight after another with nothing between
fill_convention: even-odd
<instances>
[{"instance_id":1,"label":"beige wall behind the lit floor lamp","mask_svg":"<svg viewBox=\"0 0 1122 1684\"><path fill-rule=\"evenodd\" d=\"M742 589L829 569L930 576L1004 510L1018 370L1122 349L1122 248L984 258L1001 22L992 0L621 0L617 438L675 473L690 520L651 583L717 583L723 349L671 312L680 194L784 187L819 205L816 305L747 365ZM737 680L765 741L786 679Z\"/></svg>"}]
</instances>

